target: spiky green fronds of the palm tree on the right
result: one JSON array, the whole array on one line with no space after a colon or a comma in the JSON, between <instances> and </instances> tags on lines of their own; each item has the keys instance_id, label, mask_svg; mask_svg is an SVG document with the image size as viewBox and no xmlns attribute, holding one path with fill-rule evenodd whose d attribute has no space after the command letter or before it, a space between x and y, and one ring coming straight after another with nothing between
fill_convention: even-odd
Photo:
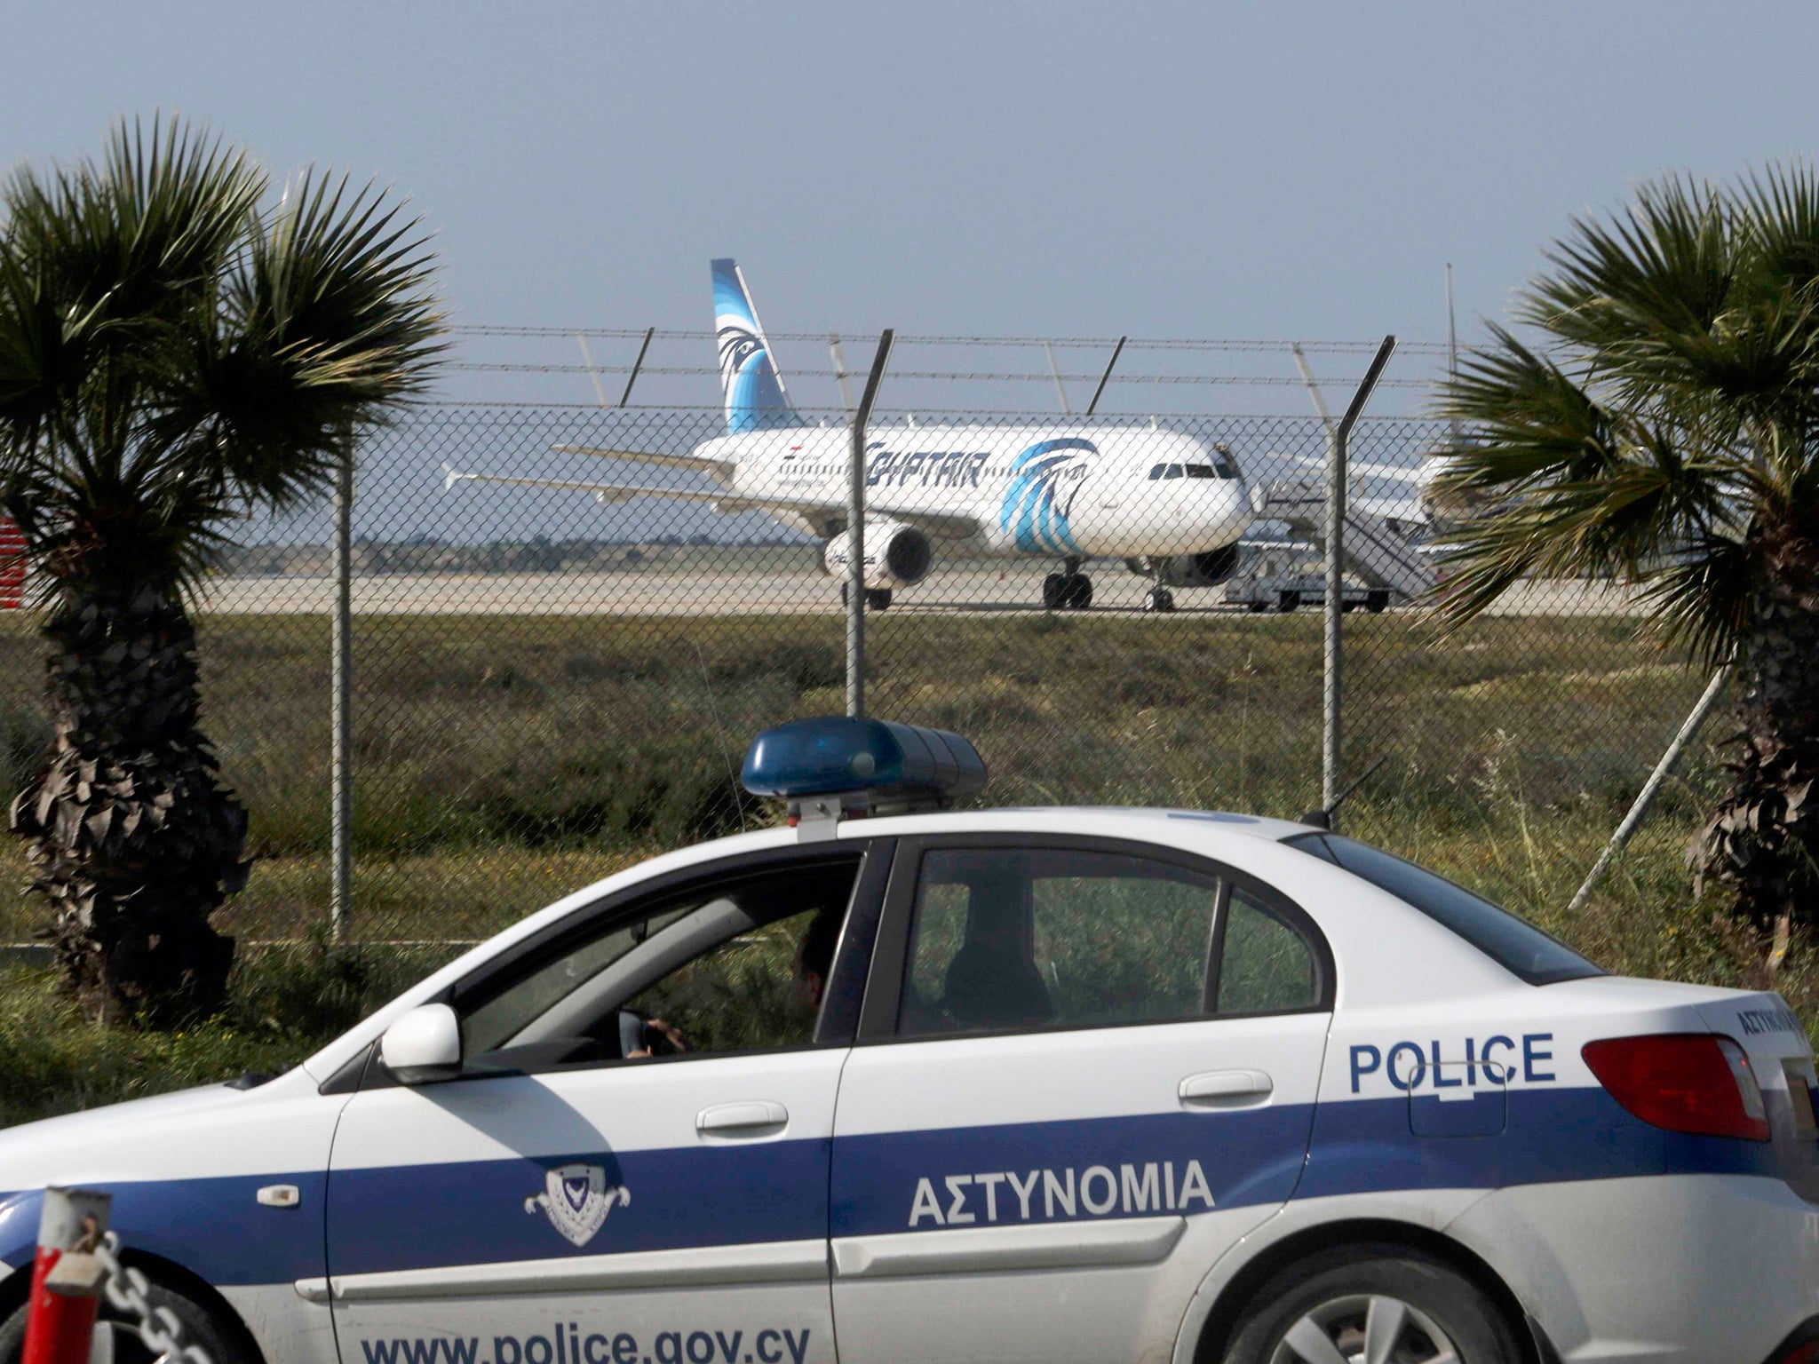
<instances>
[{"instance_id":1,"label":"spiky green fronds of the palm tree on the right","mask_svg":"<svg viewBox=\"0 0 1819 1364\"><path fill-rule=\"evenodd\" d=\"M1548 253L1437 415L1468 433L1439 500L1452 622L1530 575L1644 586L1653 622L1708 660L1755 629L1774 567L1755 531L1819 531L1819 180L1643 186Z\"/></svg>"}]
</instances>

